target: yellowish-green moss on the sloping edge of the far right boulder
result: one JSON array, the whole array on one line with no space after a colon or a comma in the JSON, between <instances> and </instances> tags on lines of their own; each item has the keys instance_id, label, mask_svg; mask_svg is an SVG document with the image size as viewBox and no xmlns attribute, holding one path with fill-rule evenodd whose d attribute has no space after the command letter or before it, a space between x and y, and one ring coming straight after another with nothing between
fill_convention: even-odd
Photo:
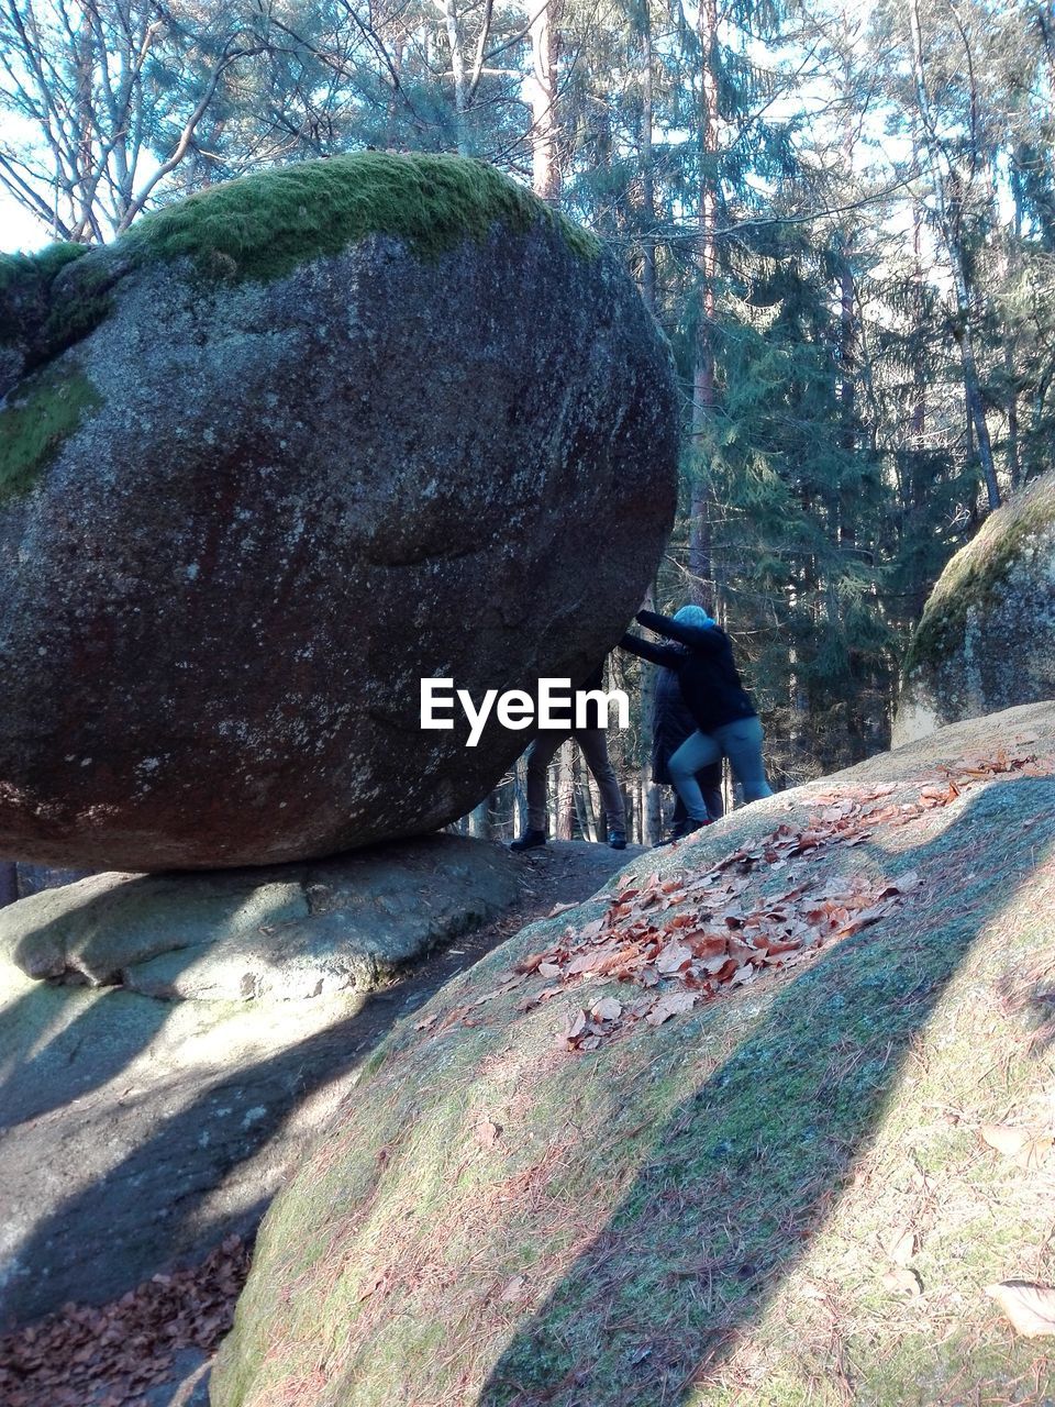
<instances>
[{"instance_id":1,"label":"yellowish-green moss on the sloping edge of the far right boulder","mask_svg":"<svg viewBox=\"0 0 1055 1407\"><path fill-rule=\"evenodd\" d=\"M969 612L999 604L1024 543L1054 528L1055 474L1045 474L992 514L938 577L904 657L906 678L941 664L961 647Z\"/></svg>"}]
</instances>

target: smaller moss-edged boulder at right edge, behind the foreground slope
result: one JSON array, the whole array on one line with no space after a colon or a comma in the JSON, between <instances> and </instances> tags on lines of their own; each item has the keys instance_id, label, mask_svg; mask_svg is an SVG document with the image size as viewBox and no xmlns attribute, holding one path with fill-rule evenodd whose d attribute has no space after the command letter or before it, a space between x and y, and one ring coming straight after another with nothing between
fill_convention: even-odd
<instances>
[{"instance_id":1,"label":"smaller moss-edged boulder at right edge, behind the foreground slope","mask_svg":"<svg viewBox=\"0 0 1055 1407\"><path fill-rule=\"evenodd\" d=\"M992 514L948 563L913 635L893 746L1055 698L1055 474Z\"/></svg>"}]
</instances>

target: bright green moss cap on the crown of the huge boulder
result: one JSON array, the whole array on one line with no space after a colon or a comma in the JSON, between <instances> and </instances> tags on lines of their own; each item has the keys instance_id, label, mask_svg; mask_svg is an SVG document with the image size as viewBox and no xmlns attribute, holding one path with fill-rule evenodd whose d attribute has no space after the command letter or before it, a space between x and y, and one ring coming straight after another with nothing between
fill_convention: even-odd
<instances>
[{"instance_id":1,"label":"bright green moss cap on the crown of the huge boulder","mask_svg":"<svg viewBox=\"0 0 1055 1407\"><path fill-rule=\"evenodd\" d=\"M118 248L136 262L191 257L217 277L280 279L369 235L435 260L495 225L546 222L580 256L598 241L484 162L359 152L243 176L145 215Z\"/></svg>"}]
</instances>

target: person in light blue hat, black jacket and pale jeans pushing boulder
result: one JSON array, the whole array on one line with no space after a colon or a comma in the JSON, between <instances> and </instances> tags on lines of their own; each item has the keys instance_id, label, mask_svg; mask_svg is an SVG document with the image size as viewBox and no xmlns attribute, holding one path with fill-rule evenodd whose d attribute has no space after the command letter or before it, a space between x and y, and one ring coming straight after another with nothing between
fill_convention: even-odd
<instances>
[{"instance_id":1,"label":"person in light blue hat, black jacket and pale jeans pushing boulder","mask_svg":"<svg viewBox=\"0 0 1055 1407\"><path fill-rule=\"evenodd\" d=\"M675 644L653 644L625 635L626 650L674 670L696 732L668 761L674 788L688 812L686 833L708 825L696 772L724 754L746 801L771 796L762 764L762 725L733 661L729 636L702 606L682 606L674 618L639 611L637 620ZM679 650L677 646L685 646Z\"/></svg>"}]
</instances>

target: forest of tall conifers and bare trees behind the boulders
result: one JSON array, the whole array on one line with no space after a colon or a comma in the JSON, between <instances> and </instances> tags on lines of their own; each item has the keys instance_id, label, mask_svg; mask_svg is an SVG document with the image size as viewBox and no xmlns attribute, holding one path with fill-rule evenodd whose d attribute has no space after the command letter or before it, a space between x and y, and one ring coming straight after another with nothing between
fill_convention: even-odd
<instances>
[{"instance_id":1,"label":"forest of tall conifers and bare trees behind the boulders","mask_svg":"<svg viewBox=\"0 0 1055 1407\"><path fill-rule=\"evenodd\" d=\"M1038 0L0 0L0 187L100 242L248 170L460 152L592 228L682 387L653 601L733 635L789 787L889 746L942 566L1051 467L1054 91ZM612 674L653 841L650 670ZM551 798L598 839L571 746ZM519 764L464 826L522 823Z\"/></svg>"}]
</instances>

